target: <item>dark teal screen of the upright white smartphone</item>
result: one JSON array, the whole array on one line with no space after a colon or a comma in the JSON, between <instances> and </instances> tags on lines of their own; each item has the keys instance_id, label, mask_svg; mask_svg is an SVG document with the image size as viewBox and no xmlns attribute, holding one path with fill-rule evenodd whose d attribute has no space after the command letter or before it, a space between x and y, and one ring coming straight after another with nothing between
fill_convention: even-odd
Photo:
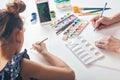
<instances>
[{"instance_id":1,"label":"dark teal screen of the upright white smartphone","mask_svg":"<svg viewBox=\"0 0 120 80\"><path fill-rule=\"evenodd\" d=\"M38 3L37 8L38 8L38 14L40 17L40 22L51 21L48 2Z\"/></svg>"}]
</instances>

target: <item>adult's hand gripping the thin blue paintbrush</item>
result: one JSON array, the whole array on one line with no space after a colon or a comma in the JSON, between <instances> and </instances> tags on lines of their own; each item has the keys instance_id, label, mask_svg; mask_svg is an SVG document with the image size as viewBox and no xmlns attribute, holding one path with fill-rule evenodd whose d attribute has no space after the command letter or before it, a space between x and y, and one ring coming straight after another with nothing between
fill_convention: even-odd
<instances>
[{"instance_id":1,"label":"adult's hand gripping the thin blue paintbrush","mask_svg":"<svg viewBox=\"0 0 120 80\"><path fill-rule=\"evenodd\" d=\"M112 24L112 18L95 16L91 19L92 25L96 30L101 30Z\"/></svg>"}]
</instances>

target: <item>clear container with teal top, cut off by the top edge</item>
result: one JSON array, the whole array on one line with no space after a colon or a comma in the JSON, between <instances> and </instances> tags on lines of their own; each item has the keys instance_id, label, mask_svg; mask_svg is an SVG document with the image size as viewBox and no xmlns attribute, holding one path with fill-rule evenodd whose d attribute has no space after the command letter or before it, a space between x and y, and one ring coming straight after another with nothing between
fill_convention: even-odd
<instances>
[{"instance_id":1,"label":"clear container with teal top, cut off by the top edge","mask_svg":"<svg viewBox=\"0 0 120 80\"><path fill-rule=\"evenodd\" d=\"M56 7L58 9L71 9L71 1L70 0L54 0L56 3Z\"/></svg>"}]
</instances>

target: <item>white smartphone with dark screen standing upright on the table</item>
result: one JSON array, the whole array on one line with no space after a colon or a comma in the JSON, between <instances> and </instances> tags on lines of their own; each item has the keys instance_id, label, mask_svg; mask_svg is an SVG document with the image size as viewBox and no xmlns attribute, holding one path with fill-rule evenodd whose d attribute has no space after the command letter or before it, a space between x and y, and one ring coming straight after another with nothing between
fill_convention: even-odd
<instances>
[{"instance_id":1,"label":"white smartphone with dark screen standing upright on the table","mask_svg":"<svg viewBox=\"0 0 120 80\"><path fill-rule=\"evenodd\" d=\"M36 1L38 15L41 24L48 24L51 22L50 9L48 0Z\"/></svg>"}]
</instances>

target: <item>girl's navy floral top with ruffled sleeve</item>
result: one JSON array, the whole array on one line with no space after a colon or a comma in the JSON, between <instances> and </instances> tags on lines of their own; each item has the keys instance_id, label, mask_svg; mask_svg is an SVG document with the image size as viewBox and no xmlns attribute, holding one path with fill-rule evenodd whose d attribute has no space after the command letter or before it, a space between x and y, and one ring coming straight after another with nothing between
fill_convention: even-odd
<instances>
[{"instance_id":1,"label":"girl's navy floral top with ruffled sleeve","mask_svg":"<svg viewBox=\"0 0 120 80\"><path fill-rule=\"evenodd\" d=\"M24 50L21 53L18 53L15 55L5 66L4 68L4 75L9 75L10 80L16 80L18 77L20 78L20 71L21 71L21 64L22 64L22 59L27 58L29 59L29 56L27 54L27 50ZM21 80L21 79L19 79Z\"/></svg>"}]
</instances>

